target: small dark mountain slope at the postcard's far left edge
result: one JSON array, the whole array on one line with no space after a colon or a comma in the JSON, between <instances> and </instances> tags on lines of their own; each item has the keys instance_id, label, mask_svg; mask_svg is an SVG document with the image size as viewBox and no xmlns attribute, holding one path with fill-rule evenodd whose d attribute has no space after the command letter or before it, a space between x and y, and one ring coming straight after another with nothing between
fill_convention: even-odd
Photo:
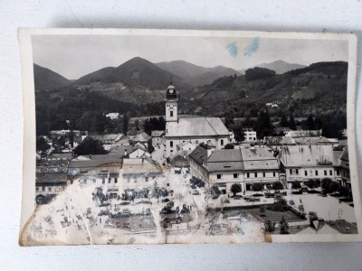
<instances>
[{"instance_id":1,"label":"small dark mountain slope at the postcard's far left edge","mask_svg":"<svg viewBox=\"0 0 362 271\"><path fill-rule=\"evenodd\" d=\"M37 64L33 64L33 75L35 90L58 89L71 84L71 80Z\"/></svg>"}]
</instances>

